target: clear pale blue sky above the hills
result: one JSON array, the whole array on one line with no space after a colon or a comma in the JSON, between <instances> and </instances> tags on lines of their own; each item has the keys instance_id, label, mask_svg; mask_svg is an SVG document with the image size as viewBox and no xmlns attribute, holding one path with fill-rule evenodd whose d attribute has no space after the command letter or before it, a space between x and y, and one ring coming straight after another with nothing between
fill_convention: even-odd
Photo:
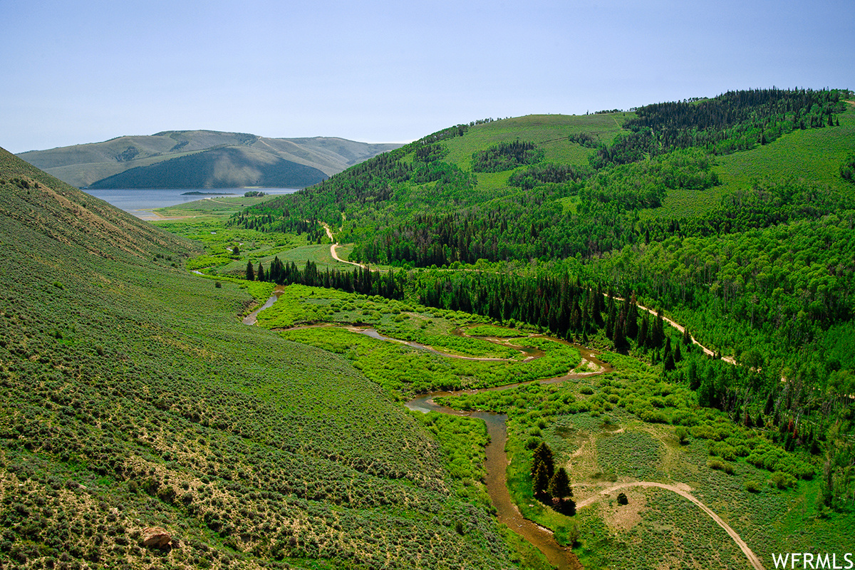
<instances>
[{"instance_id":1,"label":"clear pale blue sky above the hills","mask_svg":"<svg viewBox=\"0 0 855 570\"><path fill-rule=\"evenodd\" d=\"M0 2L0 146L404 142L751 87L855 89L852 0Z\"/></svg>"}]
</instances>

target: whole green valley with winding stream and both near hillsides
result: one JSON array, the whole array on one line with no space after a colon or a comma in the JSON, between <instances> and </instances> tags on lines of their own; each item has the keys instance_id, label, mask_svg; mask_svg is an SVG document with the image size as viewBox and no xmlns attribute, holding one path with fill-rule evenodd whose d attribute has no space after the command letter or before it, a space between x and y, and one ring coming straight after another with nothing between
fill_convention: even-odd
<instances>
[{"instance_id":1,"label":"whole green valley with winding stream and both near hillsides","mask_svg":"<svg viewBox=\"0 0 855 570\"><path fill-rule=\"evenodd\" d=\"M0 151L0 561L850 551L851 100L472 121L155 223Z\"/></svg>"}]
</instances>

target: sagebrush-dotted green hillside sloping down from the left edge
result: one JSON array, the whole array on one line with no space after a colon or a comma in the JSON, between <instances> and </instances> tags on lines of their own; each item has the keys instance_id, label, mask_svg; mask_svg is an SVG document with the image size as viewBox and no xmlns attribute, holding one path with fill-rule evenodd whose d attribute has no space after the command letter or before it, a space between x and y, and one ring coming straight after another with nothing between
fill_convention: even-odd
<instances>
[{"instance_id":1,"label":"sagebrush-dotted green hillside sloping down from the left edge","mask_svg":"<svg viewBox=\"0 0 855 570\"><path fill-rule=\"evenodd\" d=\"M4 567L510 566L422 422L190 242L5 151L0 240Z\"/></svg>"}]
</instances>

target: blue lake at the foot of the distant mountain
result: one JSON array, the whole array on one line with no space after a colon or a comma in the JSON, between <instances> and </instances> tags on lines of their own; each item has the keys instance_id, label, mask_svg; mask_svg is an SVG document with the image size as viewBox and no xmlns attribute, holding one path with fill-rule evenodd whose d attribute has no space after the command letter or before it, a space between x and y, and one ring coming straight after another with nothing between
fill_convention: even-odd
<instances>
[{"instance_id":1,"label":"blue lake at the foot of the distant mountain","mask_svg":"<svg viewBox=\"0 0 855 570\"><path fill-rule=\"evenodd\" d=\"M104 202L113 204L139 217L150 216L151 210L166 208L175 204L195 202L207 196L181 196L185 192L218 192L218 196L243 196L245 191L259 190L265 194L292 194L299 188L154 188L129 190L85 190L91 196L101 198ZM219 192L222 192L219 194Z\"/></svg>"}]
</instances>

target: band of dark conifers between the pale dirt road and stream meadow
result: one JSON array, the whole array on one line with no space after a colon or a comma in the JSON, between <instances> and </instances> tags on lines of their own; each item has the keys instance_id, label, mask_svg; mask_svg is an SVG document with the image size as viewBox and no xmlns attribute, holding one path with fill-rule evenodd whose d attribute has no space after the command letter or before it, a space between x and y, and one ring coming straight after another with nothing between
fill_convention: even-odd
<instances>
[{"instance_id":1,"label":"band of dark conifers between the pale dirt road and stream meadow","mask_svg":"<svg viewBox=\"0 0 855 570\"><path fill-rule=\"evenodd\" d=\"M372 273L368 267L318 272L312 262L300 270L294 263L281 264L277 258L270 266L270 274L281 284L414 298L429 307L481 314L510 326L539 326L552 336L581 343L594 337L600 342L609 339L619 352L632 352L654 364L661 363L664 379L685 385L697 395L701 406L722 410L746 429L764 430L780 447L746 447L741 432L729 427L727 433L718 433L711 426L699 424L696 414L665 414L674 405L667 392L643 402L627 403L629 411L646 421L671 421L685 426L686 429L678 429L680 438L691 434L709 440L711 462L721 468L727 468L727 461L736 457L746 457L756 467L774 472L773 479L781 488L795 485L796 479L820 474L823 505L842 508L852 502L855 485L849 461L855 455L852 444L836 434L852 430L851 403L847 392L840 389L855 390L855 382L850 377L849 384L832 388L829 379L835 369L840 369L839 364L836 368L822 368L815 362L803 362L789 370L782 382L780 364L769 361L761 350L744 351L735 366L711 359L693 346L688 331L679 334L664 326L661 311L657 315L639 311L633 295L606 296L602 285L583 285L578 275L569 273ZM783 450L799 455L784 454ZM820 459L823 455L824 459ZM823 467L811 467L811 463Z\"/></svg>"}]
</instances>

